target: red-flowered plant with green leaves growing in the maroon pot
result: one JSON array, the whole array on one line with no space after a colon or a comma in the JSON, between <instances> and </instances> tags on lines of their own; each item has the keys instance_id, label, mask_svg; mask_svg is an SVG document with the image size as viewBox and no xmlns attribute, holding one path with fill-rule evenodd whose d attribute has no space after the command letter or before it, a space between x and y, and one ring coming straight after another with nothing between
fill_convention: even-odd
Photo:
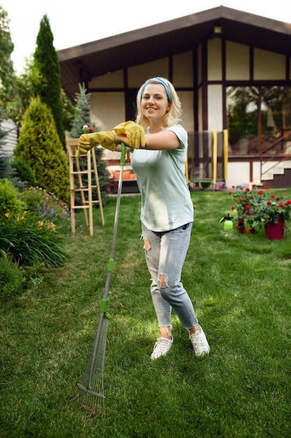
<instances>
[{"instance_id":1,"label":"red-flowered plant with green leaves growing in the maroon pot","mask_svg":"<svg viewBox=\"0 0 291 438\"><path fill-rule=\"evenodd\" d=\"M291 199L276 196L269 191L268 187L258 189L256 185L249 188L230 190L235 206L232 211L237 210L239 218L248 220L252 227L260 223L278 222L278 216L283 216L285 225L291 220Z\"/></svg>"}]
</instances>

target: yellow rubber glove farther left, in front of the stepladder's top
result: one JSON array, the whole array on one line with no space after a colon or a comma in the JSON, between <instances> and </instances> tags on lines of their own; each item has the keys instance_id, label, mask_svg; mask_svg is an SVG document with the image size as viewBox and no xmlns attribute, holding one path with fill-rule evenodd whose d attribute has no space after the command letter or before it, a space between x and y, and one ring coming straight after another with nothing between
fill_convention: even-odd
<instances>
[{"instance_id":1,"label":"yellow rubber glove farther left, in front of the stepladder's top","mask_svg":"<svg viewBox=\"0 0 291 438\"><path fill-rule=\"evenodd\" d=\"M112 131L100 131L93 134L82 134L77 143L76 157L86 154L91 148L100 144L103 148L115 150L115 134Z\"/></svg>"}]
</instances>

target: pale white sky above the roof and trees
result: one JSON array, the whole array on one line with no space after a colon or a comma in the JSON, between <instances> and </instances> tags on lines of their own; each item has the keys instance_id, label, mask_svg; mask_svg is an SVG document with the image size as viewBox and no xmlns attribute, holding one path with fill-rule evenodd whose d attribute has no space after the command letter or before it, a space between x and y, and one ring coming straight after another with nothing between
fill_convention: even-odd
<instances>
[{"instance_id":1,"label":"pale white sky above the roof and trees","mask_svg":"<svg viewBox=\"0 0 291 438\"><path fill-rule=\"evenodd\" d=\"M226 6L281 22L291 23L291 1L256 0L0 0L8 13L14 44L13 66L21 74L26 59L33 55L43 15L50 21L54 48L61 50L123 34L174 18Z\"/></svg>"}]
</instances>

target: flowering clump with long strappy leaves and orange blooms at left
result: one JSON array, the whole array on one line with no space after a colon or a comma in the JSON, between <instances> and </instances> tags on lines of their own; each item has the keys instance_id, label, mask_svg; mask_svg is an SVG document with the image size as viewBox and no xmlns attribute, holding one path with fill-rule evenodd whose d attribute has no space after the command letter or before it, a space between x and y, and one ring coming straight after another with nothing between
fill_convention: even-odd
<instances>
[{"instance_id":1,"label":"flowering clump with long strappy leaves and orange blooms at left","mask_svg":"<svg viewBox=\"0 0 291 438\"><path fill-rule=\"evenodd\" d=\"M66 203L42 188L17 192L20 208L3 204L0 255L17 265L46 267L64 264L68 257L70 211Z\"/></svg>"}]
</instances>

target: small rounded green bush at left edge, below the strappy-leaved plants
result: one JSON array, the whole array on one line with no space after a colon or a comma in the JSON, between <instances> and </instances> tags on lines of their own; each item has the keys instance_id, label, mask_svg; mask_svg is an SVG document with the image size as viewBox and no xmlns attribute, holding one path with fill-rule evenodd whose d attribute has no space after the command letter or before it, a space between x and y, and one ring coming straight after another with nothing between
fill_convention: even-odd
<instances>
[{"instance_id":1,"label":"small rounded green bush at left edge, below the strappy-leaved plants","mask_svg":"<svg viewBox=\"0 0 291 438\"><path fill-rule=\"evenodd\" d=\"M22 292L22 271L6 257L0 257L0 297L12 297Z\"/></svg>"}]
</instances>

